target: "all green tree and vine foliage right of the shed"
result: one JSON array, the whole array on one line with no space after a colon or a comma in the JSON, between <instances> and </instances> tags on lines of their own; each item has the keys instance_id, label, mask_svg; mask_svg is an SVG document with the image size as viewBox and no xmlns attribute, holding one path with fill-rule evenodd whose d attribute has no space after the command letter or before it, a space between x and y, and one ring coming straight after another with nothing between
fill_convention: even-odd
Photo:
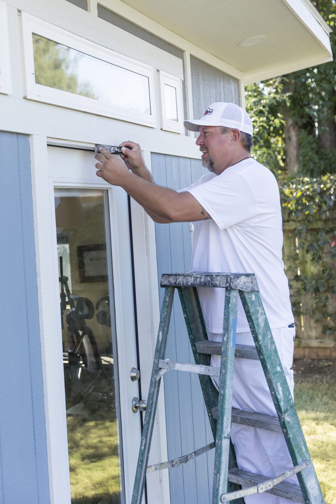
<instances>
[{"instance_id":1,"label":"all green tree and vine foliage right of the shed","mask_svg":"<svg viewBox=\"0 0 336 504\"><path fill-rule=\"evenodd\" d=\"M312 4L333 30L330 43L335 52L336 0ZM322 324L324 333L336 336L332 307L336 305L336 177L332 175L336 174L336 62L250 84L245 100L255 131L251 155L279 179L284 221L291 222L297 239L292 256L286 257L294 311L303 314L302 299L311 301L309 315ZM285 118L298 132L298 176L291 179Z\"/></svg>"}]
</instances>

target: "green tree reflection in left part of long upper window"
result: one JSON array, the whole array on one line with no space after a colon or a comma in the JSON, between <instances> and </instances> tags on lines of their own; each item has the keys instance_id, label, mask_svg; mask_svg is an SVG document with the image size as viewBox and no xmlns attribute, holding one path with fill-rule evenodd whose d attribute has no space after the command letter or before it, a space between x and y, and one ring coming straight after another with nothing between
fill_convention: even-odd
<instances>
[{"instance_id":1,"label":"green tree reflection in left part of long upper window","mask_svg":"<svg viewBox=\"0 0 336 504\"><path fill-rule=\"evenodd\" d=\"M73 57L68 47L40 35L33 37L33 50L37 84L96 98L90 83L78 80L76 70L80 55Z\"/></svg>"}]
</instances>

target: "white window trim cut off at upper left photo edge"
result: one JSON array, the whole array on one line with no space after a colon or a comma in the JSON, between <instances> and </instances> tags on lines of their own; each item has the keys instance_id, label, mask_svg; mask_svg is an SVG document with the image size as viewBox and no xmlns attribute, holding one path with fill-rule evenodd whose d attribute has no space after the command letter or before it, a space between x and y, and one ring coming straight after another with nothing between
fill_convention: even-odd
<instances>
[{"instance_id":1,"label":"white window trim cut off at upper left photo edge","mask_svg":"<svg viewBox=\"0 0 336 504\"><path fill-rule=\"evenodd\" d=\"M12 94L7 5L0 2L0 93Z\"/></svg>"}]
</instances>

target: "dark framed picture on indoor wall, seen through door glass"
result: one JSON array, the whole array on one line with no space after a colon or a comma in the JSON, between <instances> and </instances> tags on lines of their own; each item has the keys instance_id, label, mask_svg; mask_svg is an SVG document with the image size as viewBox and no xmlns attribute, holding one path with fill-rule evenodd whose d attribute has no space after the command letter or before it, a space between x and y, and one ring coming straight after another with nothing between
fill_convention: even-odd
<instances>
[{"instance_id":1,"label":"dark framed picture on indoor wall, seen through door glass","mask_svg":"<svg viewBox=\"0 0 336 504\"><path fill-rule=\"evenodd\" d=\"M77 247L80 282L107 282L106 245Z\"/></svg>"}]
</instances>

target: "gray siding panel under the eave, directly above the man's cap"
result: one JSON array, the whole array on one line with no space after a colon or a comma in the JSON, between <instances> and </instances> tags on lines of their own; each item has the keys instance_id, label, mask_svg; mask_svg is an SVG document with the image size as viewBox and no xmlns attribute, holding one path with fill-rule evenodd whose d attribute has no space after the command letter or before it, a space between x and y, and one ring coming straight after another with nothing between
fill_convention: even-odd
<instances>
[{"instance_id":1,"label":"gray siding panel under the eave, directly above the man's cap","mask_svg":"<svg viewBox=\"0 0 336 504\"><path fill-rule=\"evenodd\" d=\"M190 68L194 119L199 119L207 107L216 101L240 105L237 79L194 56L190 56Z\"/></svg>"}]
</instances>

